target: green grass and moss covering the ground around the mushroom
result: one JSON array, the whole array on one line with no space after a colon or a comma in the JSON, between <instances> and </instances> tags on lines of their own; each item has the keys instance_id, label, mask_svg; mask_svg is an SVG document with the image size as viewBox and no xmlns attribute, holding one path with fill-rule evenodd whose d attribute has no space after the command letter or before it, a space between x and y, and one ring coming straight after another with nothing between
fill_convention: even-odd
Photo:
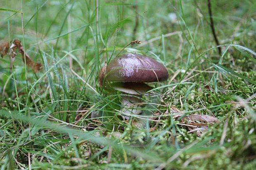
<instances>
[{"instance_id":1,"label":"green grass and moss covering the ground around the mushroom","mask_svg":"<svg viewBox=\"0 0 256 170\"><path fill-rule=\"evenodd\" d=\"M20 55L14 67L0 59L1 170L255 169L254 0L211 1L222 55L206 1L1 2L0 42L21 40L43 64L35 73ZM142 44L121 53L152 57L170 74L142 97L154 115L135 116L145 127L123 120L126 94L97 82L104 62L135 39ZM186 115L219 121L200 136Z\"/></svg>"}]
</instances>

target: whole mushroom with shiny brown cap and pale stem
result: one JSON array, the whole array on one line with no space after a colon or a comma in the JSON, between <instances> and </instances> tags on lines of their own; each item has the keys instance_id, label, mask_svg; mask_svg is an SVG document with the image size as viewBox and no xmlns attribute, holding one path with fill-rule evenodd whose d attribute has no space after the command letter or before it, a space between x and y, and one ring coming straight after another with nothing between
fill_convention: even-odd
<instances>
[{"instance_id":1,"label":"whole mushroom with shiny brown cap and pale stem","mask_svg":"<svg viewBox=\"0 0 256 170\"><path fill-rule=\"evenodd\" d=\"M104 86L104 82L114 82L110 84L115 90L124 92L121 104L125 106L126 115L133 113L140 114L140 98L147 91L152 89L146 83L160 82L168 79L166 67L156 60L144 55L128 53L105 64L99 75L99 83ZM132 96L131 96L132 95ZM129 119L129 116L125 116Z\"/></svg>"}]
</instances>

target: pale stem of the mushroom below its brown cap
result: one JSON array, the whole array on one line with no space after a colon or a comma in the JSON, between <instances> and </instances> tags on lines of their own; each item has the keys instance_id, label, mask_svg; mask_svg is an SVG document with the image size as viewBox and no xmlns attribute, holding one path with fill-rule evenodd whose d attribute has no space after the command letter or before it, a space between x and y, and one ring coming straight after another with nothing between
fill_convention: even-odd
<instances>
[{"instance_id":1,"label":"pale stem of the mushroom below its brown cap","mask_svg":"<svg viewBox=\"0 0 256 170\"><path fill-rule=\"evenodd\" d=\"M141 100L139 98L141 98L141 95L121 96L121 104L124 106L122 111L125 113L125 119L130 118L128 115L142 113L142 110L140 110Z\"/></svg>"}]
</instances>

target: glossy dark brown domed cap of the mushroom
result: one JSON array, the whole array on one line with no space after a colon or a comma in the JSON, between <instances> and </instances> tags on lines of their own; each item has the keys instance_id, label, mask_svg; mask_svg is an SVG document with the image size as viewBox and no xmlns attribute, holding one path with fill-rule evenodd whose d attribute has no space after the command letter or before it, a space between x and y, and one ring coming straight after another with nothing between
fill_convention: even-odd
<instances>
[{"instance_id":1,"label":"glossy dark brown domed cap of the mushroom","mask_svg":"<svg viewBox=\"0 0 256 170\"><path fill-rule=\"evenodd\" d=\"M156 60L138 54L116 57L107 65L108 81L158 82L168 78L166 67Z\"/></svg>"}]
</instances>

